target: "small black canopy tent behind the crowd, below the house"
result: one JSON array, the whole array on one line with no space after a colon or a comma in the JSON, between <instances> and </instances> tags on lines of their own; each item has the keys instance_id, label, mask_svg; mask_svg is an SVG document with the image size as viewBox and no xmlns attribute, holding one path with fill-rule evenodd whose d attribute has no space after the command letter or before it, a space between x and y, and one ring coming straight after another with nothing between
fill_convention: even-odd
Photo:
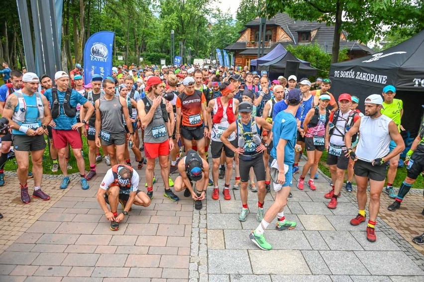
<instances>
[{"instance_id":1,"label":"small black canopy tent behind the crowd, below the house","mask_svg":"<svg viewBox=\"0 0 424 282\"><path fill-rule=\"evenodd\" d=\"M258 71L265 70L271 74L274 73L274 74L282 75L284 74L286 70L287 61L300 62L299 72L298 72L298 77L300 78L316 76L318 74L318 70L316 68L311 67L306 63L303 63L301 60L296 58L290 51L287 51L287 53L282 57L278 57L264 64L259 64Z\"/></svg>"}]
</instances>

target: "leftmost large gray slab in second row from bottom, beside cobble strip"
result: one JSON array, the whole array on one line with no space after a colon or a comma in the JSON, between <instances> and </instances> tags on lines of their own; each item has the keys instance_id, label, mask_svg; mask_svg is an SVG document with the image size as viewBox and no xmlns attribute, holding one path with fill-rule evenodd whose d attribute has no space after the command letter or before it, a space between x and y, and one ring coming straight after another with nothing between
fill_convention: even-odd
<instances>
[{"instance_id":1,"label":"leftmost large gray slab in second row from bottom, beside cobble strip","mask_svg":"<svg viewBox=\"0 0 424 282\"><path fill-rule=\"evenodd\" d=\"M246 250L209 250L210 274L253 274Z\"/></svg>"}]
</instances>

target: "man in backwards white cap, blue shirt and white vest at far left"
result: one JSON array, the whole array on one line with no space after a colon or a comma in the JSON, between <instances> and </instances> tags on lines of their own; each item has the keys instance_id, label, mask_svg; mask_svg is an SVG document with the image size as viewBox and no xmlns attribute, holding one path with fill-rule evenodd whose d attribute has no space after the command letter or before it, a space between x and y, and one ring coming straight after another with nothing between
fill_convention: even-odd
<instances>
[{"instance_id":1,"label":"man in backwards white cap, blue shirt and white vest at far left","mask_svg":"<svg viewBox=\"0 0 424 282\"><path fill-rule=\"evenodd\" d=\"M22 90L8 96L2 115L9 120L9 125L13 128L13 147L18 166L20 200L26 204L31 201L27 185L28 153L31 153L34 172L32 197L42 200L50 199L50 196L41 190L41 180L43 177L43 154L46 147L44 130L52 118L46 97L37 92L39 83L37 75L26 73L22 77L22 82Z\"/></svg>"}]
</instances>

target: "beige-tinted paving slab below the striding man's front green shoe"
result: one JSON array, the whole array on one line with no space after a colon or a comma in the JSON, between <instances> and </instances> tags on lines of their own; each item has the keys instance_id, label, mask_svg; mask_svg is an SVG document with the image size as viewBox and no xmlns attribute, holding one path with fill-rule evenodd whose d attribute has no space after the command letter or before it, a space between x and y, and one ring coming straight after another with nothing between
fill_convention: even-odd
<instances>
[{"instance_id":1,"label":"beige-tinted paving slab below the striding man's front green shoe","mask_svg":"<svg viewBox=\"0 0 424 282\"><path fill-rule=\"evenodd\" d=\"M308 264L298 250L249 250L253 274L302 275L311 274ZM275 258L278 258L276 260ZM260 264L259 262L267 262ZM281 267L284 266L284 267Z\"/></svg>"}]
</instances>

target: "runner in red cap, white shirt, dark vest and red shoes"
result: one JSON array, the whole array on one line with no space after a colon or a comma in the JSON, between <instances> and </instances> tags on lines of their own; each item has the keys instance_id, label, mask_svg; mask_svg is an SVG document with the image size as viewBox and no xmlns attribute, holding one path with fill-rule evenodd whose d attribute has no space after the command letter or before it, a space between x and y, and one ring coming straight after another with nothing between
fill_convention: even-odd
<instances>
[{"instance_id":1,"label":"runner in red cap, white shirt, dark vest and red shoes","mask_svg":"<svg viewBox=\"0 0 424 282\"><path fill-rule=\"evenodd\" d=\"M345 134L360 119L359 114L350 109L351 101L352 97L349 94L340 94L338 97L339 109L331 113L327 126L328 134L325 134L325 149L328 151L327 165L329 165L331 173L332 186L324 197L330 199L327 207L333 209L337 207L337 197L343 186L344 172L349 164L349 158L343 154L343 151L346 150ZM356 138L357 135L354 135L352 141L355 142ZM349 148L351 147L349 146Z\"/></svg>"}]
</instances>

